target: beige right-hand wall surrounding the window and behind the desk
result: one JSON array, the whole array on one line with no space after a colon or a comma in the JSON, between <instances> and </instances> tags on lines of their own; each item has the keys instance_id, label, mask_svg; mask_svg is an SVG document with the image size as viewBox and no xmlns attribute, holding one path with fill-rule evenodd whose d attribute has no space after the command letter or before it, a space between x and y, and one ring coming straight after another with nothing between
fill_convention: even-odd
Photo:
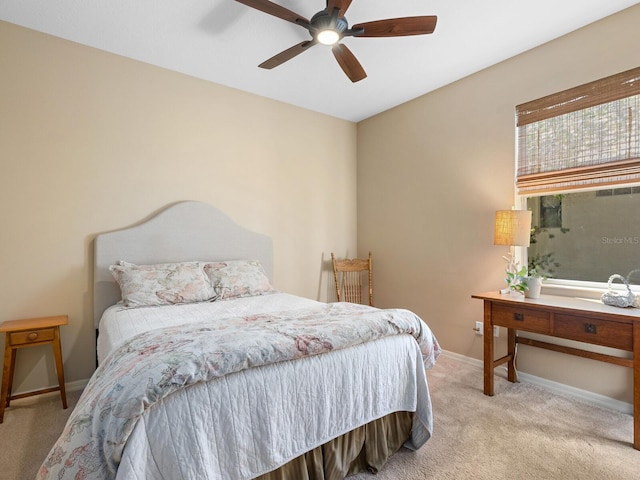
<instances>
[{"instance_id":1,"label":"beige right-hand wall surrounding the window and behind the desk","mask_svg":"<svg viewBox=\"0 0 640 480\"><path fill-rule=\"evenodd\" d=\"M503 286L492 223L514 202L514 107L637 67L638 25L640 5L358 124L358 250L373 251L378 306L413 309L445 349L482 358L470 296ZM519 366L632 400L628 369L531 348Z\"/></svg>"}]
</instances>

